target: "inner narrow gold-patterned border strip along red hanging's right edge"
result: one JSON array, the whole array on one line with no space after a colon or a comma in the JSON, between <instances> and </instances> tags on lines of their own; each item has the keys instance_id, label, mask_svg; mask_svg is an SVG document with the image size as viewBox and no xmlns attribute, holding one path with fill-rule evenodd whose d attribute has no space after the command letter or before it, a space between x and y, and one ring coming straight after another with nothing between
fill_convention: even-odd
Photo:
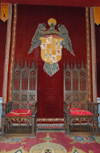
<instances>
[{"instance_id":1,"label":"inner narrow gold-patterned border strip along red hanging's right edge","mask_svg":"<svg viewBox=\"0 0 100 153\"><path fill-rule=\"evenodd\" d=\"M91 57L90 57L89 8L86 7L86 46L87 46L87 82L88 100L91 101Z\"/></svg>"}]
</instances>

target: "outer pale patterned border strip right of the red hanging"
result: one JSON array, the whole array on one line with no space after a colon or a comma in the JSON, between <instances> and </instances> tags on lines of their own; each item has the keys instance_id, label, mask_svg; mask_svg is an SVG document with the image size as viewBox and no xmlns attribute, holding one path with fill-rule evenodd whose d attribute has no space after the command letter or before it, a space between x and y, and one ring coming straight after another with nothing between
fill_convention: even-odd
<instances>
[{"instance_id":1,"label":"outer pale patterned border strip right of the red hanging","mask_svg":"<svg viewBox=\"0 0 100 153\"><path fill-rule=\"evenodd\" d=\"M92 52L92 84L93 84L93 101L97 102L97 80L96 80L96 44L95 44L95 27L93 7L90 8L91 20L91 52Z\"/></svg>"}]
</instances>

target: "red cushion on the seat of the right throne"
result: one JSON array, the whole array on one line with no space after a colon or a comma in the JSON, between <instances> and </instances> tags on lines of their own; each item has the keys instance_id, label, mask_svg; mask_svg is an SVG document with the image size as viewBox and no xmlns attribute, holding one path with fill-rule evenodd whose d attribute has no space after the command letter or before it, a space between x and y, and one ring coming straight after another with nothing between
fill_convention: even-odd
<instances>
[{"instance_id":1,"label":"red cushion on the seat of the right throne","mask_svg":"<svg viewBox=\"0 0 100 153\"><path fill-rule=\"evenodd\" d=\"M71 108L70 114L71 115L93 115L91 112L82 108Z\"/></svg>"}]
</instances>

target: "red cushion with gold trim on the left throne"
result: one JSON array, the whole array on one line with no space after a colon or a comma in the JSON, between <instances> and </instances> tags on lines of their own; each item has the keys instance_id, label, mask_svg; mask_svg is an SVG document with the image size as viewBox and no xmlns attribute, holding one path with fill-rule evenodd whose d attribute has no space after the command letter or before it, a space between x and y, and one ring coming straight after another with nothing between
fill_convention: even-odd
<instances>
[{"instance_id":1,"label":"red cushion with gold trim on the left throne","mask_svg":"<svg viewBox=\"0 0 100 153\"><path fill-rule=\"evenodd\" d=\"M16 109L12 112L8 113L7 116L30 116L32 114L32 110L29 109Z\"/></svg>"}]
</instances>

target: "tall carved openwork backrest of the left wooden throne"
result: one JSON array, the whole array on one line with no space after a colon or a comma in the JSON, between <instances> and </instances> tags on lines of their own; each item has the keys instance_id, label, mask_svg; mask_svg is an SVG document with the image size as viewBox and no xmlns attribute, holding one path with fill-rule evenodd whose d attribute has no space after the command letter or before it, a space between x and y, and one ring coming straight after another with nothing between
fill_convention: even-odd
<instances>
[{"instance_id":1,"label":"tall carved openwork backrest of the left wooden throne","mask_svg":"<svg viewBox=\"0 0 100 153\"><path fill-rule=\"evenodd\" d=\"M37 68L34 63L20 66L19 62L13 70L12 100L17 103L37 101Z\"/></svg>"}]
</instances>

